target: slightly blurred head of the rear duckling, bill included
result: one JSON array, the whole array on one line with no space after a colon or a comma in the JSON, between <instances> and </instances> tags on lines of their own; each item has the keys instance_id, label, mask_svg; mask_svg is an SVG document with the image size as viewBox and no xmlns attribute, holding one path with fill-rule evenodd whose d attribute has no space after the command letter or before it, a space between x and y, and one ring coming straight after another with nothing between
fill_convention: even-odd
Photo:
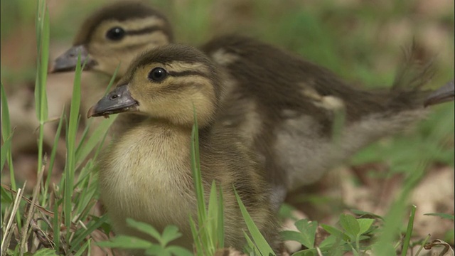
<instances>
[{"instance_id":1,"label":"slightly blurred head of the rear duckling, bill included","mask_svg":"<svg viewBox=\"0 0 455 256\"><path fill-rule=\"evenodd\" d=\"M117 76L126 72L142 51L173 41L166 16L141 1L119 1L88 17L74 38L73 47L55 59L53 72L74 70L77 55L86 70Z\"/></svg>"}]
</instances>

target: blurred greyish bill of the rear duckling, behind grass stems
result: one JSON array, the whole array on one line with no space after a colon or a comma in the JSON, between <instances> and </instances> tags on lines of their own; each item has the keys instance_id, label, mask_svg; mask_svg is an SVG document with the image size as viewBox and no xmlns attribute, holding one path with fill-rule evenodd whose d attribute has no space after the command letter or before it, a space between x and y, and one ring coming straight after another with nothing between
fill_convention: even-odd
<instances>
[{"instance_id":1,"label":"blurred greyish bill of the rear duckling, behind grass stems","mask_svg":"<svg viewBox=\"0 0 455 256\"><path fill-rule=\"evenodd\" d=\"M79 55L79 53L80 63L85 62L85 70L90 70L94 65L96 65L95 60L92 60L92 58L90 58L85 46L73 46L54 60L51 73L60 73L75 70L77 65L77 55Z\"/></svg>"}]
</instances>

